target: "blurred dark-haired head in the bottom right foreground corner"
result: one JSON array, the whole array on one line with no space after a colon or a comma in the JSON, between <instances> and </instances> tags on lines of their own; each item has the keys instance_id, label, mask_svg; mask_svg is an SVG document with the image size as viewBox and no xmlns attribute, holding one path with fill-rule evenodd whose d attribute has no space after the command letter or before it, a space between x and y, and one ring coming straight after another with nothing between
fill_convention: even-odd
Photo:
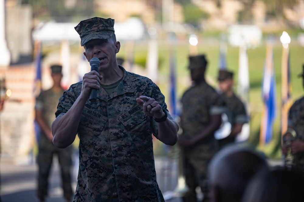
<instances>
[{"instance_id":1,"label":"blurred dark-haired head in the bottom right foreground corner","mask_svg":"<svg viewBox=\"0 0 304 202\"><path fill-rule=\"evenodd\" d=\"M302 202L304 176L299 171L273 170L250 181L242 202Z\"/></svg>"}]
</instances>

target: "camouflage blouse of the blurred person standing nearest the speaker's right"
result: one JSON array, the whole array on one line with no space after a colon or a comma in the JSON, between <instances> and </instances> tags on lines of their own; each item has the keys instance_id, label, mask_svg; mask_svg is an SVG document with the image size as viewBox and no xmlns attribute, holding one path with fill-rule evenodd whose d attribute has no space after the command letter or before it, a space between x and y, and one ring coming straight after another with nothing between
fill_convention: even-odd
<instances>
[{"instance_id":1,"label":"camouflage blouse of the blurred person standing nearest the speaker's right","mask_svg":"<svg viewBox=\"0 0 304 202\"><path fill-rule=\"evenodd\" d=\"M182 96L181 128L182 136L192 138L201 133L210 124L210 116L225 111L224 101L206 82L192 86ZM212 157L216 152L216 141L213 135L185 151L187 157Z\"/></svg>"}]
</instances>

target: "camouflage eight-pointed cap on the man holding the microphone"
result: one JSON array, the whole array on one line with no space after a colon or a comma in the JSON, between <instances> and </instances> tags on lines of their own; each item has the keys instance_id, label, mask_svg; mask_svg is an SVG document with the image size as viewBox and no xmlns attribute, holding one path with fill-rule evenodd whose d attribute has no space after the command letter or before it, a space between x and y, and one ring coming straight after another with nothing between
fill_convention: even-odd
<instances>
[{"instance_id":1,"label":"camouflage eight-pointed cap on the man holding the microphone","mask_svg":"<svg viewBox=\"0 0 304 202\"><path fill-rule=\"evenodd\" d=\"M90 18L75 27L81 39L81 46L92 39L107 39L114 34L114 19Z\"/></svg>"}]
</instances>

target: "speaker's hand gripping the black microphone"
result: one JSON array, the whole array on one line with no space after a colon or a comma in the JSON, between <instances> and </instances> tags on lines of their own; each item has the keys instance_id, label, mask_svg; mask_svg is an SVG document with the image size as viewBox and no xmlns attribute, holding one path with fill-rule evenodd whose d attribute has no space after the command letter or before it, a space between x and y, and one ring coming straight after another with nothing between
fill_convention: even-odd
<instances>
[{"instance_id":1,"label":"speaker's hand gripping the black microphone","mask_svg":"<svg viewBox=\"0 0 304 202\"><path fill-rule=\"evenodd\" d=\"M90 71L86 73L82 78L82 88L80 96L86 98L86 100L90 97L90 90L95 88L96 90L100 90L100 80L102 76L98 74L96 71Z\"/></svg>"}]
</instances>

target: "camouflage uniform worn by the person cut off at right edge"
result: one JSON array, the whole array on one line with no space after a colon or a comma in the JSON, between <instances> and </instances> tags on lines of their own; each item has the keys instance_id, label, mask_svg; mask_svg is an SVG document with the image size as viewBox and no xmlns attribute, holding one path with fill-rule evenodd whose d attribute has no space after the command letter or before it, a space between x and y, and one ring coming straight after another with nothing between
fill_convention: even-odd
<instances>
[{"instance_id":1,"label":"camouflage uniform worn by the person cut off at right edge","mask_svg":"<svg viewBox=\"0 0 304 202\"><path fill-rule=\"evenodd\" d=\"M304 97L295 101L289 109L288 126L292 127L297 139L304 141ZM304 172L304 152L298 153L299 167Z\"/></svg>"}]
</instances>

